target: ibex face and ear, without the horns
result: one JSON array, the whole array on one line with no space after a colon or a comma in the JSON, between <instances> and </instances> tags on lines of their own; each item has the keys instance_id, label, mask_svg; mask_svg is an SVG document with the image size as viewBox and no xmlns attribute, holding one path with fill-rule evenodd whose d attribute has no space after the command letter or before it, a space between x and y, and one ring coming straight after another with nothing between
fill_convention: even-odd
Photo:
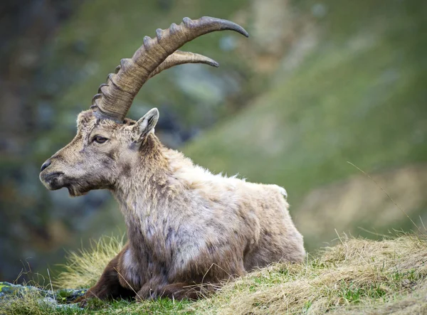
<instances>
[{"instance_id":1,"label":"ibex face and ear, without the horns","mask_svg":"<svg viewBox=\"0 0 427 315\"><path fill-rule=\"evenodd\" d=\"M71 196L114 186L117 177L129 173L137 162L158 118L156 108L138 122L125 119L122 124L98 119L91 110L81 112L77 135L41 166L41 181L51 190L67 187Z\"/></svg>"}]
</instances>

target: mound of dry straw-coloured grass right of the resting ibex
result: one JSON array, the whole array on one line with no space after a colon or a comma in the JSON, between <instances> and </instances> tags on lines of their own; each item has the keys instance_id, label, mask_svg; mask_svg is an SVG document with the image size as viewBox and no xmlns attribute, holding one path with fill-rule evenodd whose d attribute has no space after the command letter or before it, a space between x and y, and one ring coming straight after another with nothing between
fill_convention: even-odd
<instances>
[{"instance_id":1,"label":"mound of dry straw-coloured grass right of the resting ibex","mask_svg":"<svg viewBox=\"0 0 427 315\"><path fill-rule=\"evenodd\" d=\"M307 265L277 264L189 305L206 314L324 314L398 309L427 312L427 240L346 239ZM416 291L418 290L418 292ZM416 303L414 303L416 301Z\"/></svg>"}]
</instances>

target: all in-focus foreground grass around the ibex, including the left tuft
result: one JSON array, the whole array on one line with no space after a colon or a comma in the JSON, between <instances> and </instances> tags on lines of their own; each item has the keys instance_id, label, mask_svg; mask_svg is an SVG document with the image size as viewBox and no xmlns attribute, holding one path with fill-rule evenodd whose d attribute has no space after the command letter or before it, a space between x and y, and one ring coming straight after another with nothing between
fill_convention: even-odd
<instances>
[{"instance_id":1,"label":"all in-focus foreground grass around the ibex, including the left tuft","mask_svg":"<svg viewBox=\"0 0 427 315\"><path fill-rule=\"evenodd\" d=\"M105 238L70 253L62 287L94 284L122 240ZM381 241L339 237L339 245L301 265L274 264L226 283L199 301L97 301L52 308L30 292L0 304L0 314L423 314L427 312L427 237Z\"/></svg>"}]
</instances>

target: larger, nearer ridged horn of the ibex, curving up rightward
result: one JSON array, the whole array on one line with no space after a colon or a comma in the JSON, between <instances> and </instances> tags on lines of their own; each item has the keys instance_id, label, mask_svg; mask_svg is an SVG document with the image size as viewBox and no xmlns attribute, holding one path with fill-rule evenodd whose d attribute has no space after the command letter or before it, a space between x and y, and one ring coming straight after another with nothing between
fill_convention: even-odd
<instances>
[{"instance_id":1,"label":"larger, nearer ridged horn of the ibex, curving up rightward","mask_svg":"<svg viewBox=\"0 0 427 315\"><path fill-rule=\"evenodd\" d=\"M101 85L98 94L93 97L93 108L96 109L95 115L98 118L123 122L139 89L152 77L153 71L157 70L156 68L169 55L173 55L175 50L194 40L194 38L206 33L223 30L236 31L248 37L248 32L238 24L209 16L204 16L194 21L190 18L184 18L179 26L172 23L166 30L158 28L156 38L145 36L144 44L135 52L132 59L122 59L118 72L115 74L110 73L107 77L107 83ZM176 56L178 55L180 53ZM159 67L157 73L179 64L176 63L176 60L184 59L186 62L182 63L188 63L188 60L192 58L191 55L180 56L177 59L171 58L162 67ZM195 54L192 56L194 57ZM207 60L209 59L206 59L205 63L209 64L211 61L208 62Z\"/></svg>"}]
</instances>

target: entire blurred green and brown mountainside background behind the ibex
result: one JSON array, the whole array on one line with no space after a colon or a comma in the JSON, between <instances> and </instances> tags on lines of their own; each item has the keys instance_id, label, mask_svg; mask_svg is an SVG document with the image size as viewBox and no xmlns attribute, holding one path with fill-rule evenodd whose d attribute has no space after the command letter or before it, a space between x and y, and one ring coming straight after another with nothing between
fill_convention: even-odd
<instances>
[{"instance_id":1,"label":"entire blurred green and brown mountainside background behind the ibex","mask_svg":"<svg viewBox=\"0 0 427 315\"><path fill-rule=\"evenodd\" d=\"M105 191L47 191L46 159L145 35L189 16L240 23L184 46L221 67L153 78L131 109L216 173L287 189L307 250L337 233L427 222L427 3L408 0L64 0L0 4L0 279L58 269L65 250L125 233ZM352 162L373 178L358 171ZM376 181L379 186L374 182Z\"/></svg>"}]
</instances>

